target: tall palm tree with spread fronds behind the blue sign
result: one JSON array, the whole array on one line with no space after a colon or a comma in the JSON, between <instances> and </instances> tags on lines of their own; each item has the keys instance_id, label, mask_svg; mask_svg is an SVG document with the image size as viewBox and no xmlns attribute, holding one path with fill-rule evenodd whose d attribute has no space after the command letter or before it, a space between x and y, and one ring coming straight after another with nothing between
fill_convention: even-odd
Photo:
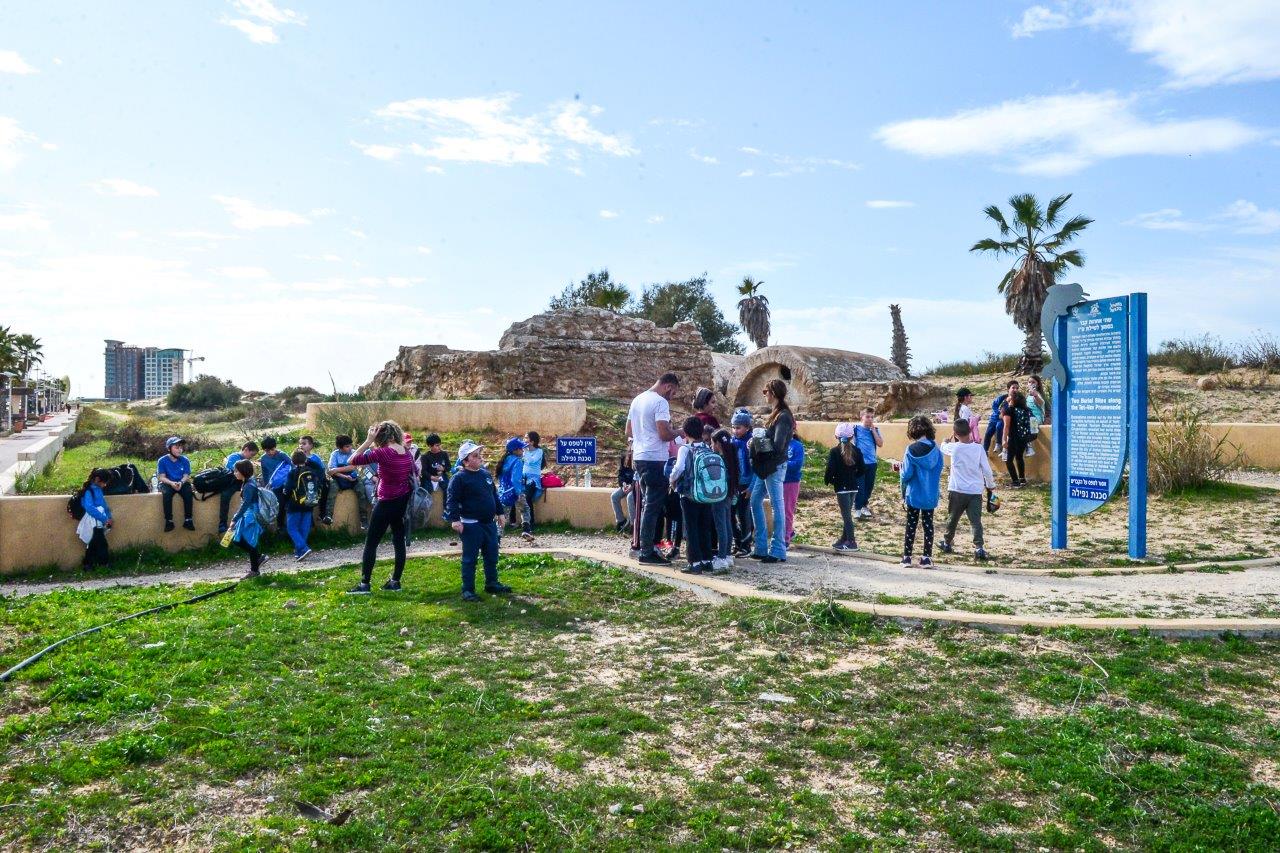
<instances>
[{"instance_id":1,"label":"tall palm tree with spread fronds behind the blue sign","mask_svg":"<svg viewBox=\"0 0 1280 853\"><path fill-rule=\"evenodd\" d=\"M1018 364L1018 371L1023 374L1039 373L1044 366L1039 328L1044 293L1069 266L1084 266L1084 255L1076 248L1066 248L1066 245L1093 220L1088 216L1071 216L1057 228L1062 207L1070 199L1071 193L1057 196L1042 209L1029 192L1011 196L1009 206L1014 214L1012 225L1000 207L991 205L983 213L1000 227L1001 238L979 240L969 248L972 252L993 252L997 257L1014 256L1014 265L996 289L1005 295L1005 313L1027 334L1023 357Z\"/></svg>"}]
</instances>

